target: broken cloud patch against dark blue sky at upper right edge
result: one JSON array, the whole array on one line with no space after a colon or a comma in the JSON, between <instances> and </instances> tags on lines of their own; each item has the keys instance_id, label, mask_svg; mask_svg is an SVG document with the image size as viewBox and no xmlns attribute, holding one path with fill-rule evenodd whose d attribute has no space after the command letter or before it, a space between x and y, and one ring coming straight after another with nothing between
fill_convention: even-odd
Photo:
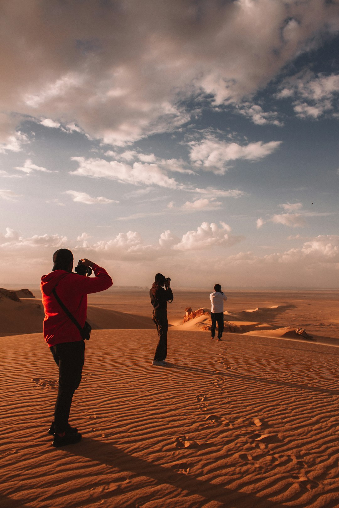
<instances>
[{"instance_id":1,"label":"broken cloud patch against dark blue sky at upper right edge","mask_svg":"<svg viewBox=\"0 0 339 508\"><path fill-rule=\"evenodd\" d=\"M299 118L319 118L323 114L337 116L339 75L314 74L310 71L288 78L276 94L278 99L292 98Z\"/></svg>"}]
</instances>

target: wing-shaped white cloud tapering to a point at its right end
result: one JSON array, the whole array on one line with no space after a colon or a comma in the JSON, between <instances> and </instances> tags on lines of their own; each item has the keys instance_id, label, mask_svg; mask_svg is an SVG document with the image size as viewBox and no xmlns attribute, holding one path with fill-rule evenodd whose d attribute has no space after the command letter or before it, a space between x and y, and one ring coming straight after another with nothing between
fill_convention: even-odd
<instances>
[{"instance_id":1,"label":"wing-shaped white cloud tapering to a point at its right end","mask_svg":"<svg viewBox=\"0 0 339 508\"><path fill-rule=\"evenodd\" d=\"M281 141L264 143L258 141L247 145L239 145L234 142L220 141L213 136L206 137L200 142L190 142L190 158L195 165L206 171L224 174L227 165L236 160L259 161L273 153L281 144Z\"/></svg>"}]
</instances>

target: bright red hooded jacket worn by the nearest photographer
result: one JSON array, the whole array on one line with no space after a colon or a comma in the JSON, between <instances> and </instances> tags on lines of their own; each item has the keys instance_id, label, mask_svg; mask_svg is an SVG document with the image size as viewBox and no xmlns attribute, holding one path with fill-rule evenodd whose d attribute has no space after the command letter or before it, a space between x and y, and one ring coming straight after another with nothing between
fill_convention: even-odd
<instances>
[{"instance_id":1,"label":"bright red hooded jacket worn by the nearest photographer","mask_svg":"<svg viewBox=\"0 0 339 508\"><path fill-rule=\"evenodd\" d=\"M87 294L104 291L113 284L104 268L94 263L92 268L95 278L65 270L55 270L41 277L40 289L45 310L44 337L49 347L61 342L82 340L77 327L55 300L52 293L54 288L61 302L83 327L87 314Z\"/></svg>"}]
</instances>

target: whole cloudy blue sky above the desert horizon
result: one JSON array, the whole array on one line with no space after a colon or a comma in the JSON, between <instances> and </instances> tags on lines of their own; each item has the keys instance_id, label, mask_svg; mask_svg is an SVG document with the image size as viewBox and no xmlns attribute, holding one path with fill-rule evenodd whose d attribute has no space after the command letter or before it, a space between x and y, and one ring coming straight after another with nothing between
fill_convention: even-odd
<instances>
[{"instance_id":1,"label":"whole cloudy blue sky above the desert horizon","mask_svg":"<svg viewBox=\"0 0 339 508\"><path fill-rule=\"evenodd\" d=\"M338 0L3 0L0 284L339 287Z\"/></svg>"}]
</instances>

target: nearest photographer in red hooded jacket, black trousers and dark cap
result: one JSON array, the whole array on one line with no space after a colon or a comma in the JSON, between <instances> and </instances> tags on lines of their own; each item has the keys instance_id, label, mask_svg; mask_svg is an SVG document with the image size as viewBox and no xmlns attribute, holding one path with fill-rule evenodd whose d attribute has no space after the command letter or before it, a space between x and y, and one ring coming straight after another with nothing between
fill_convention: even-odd
<instances>
[{"instance_id":1,"label":"nearest photographer in red hooded jacket, black trousers and dark cap","mask_svg":"<svg viewBox=\"0 0 339 508\"><path fill-rule=\"evenodd\" d=\"M94 277L72 273L73 254L68 249L58 249L53 254L53 268L41 277L40 289L45 310L44 338L59 368L59 388L54 408L54 421L48 431L54 435L53 446L76 443L81 440L78 429L68 423L72 398L80 385L85 361L85 343L77 326L60 307L53 290L61 302L73 314L81 327L87 313L87 294L108 289L112 279L100 266L88 259L80 260L91 267Z\"/></svg>"}]
</instances>

